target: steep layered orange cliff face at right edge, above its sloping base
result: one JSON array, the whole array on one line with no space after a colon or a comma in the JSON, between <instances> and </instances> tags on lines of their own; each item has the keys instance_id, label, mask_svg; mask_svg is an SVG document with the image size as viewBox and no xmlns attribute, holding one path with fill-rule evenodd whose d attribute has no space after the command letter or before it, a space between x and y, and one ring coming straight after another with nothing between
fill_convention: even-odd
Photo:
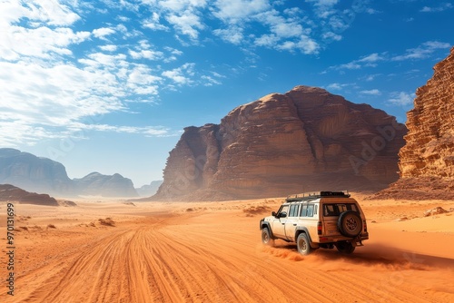
<instances>
[{"instance_id":1,"label":"steep layered orange cliff face at right edge, above its sloping base","mask_svg":"<svg viewBox=\"0 0 454 303\"><path fill-rule=\"evenodd\" d=\"M454 48L434 66L407 112L406 144L400 150L402 178L454 179Z\"/></svg>"}]
</instances>

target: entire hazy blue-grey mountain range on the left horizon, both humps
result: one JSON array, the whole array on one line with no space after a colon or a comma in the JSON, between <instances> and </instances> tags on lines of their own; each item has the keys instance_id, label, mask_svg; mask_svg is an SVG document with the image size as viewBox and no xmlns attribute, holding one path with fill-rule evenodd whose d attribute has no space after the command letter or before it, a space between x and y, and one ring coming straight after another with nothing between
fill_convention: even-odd
<instances>
[{"instance_id":1,"label":"entire hazy blue-grey mountain range on the left horizon, both humps","mask_svg":"<svg viewBox=\"0 0 454 303\"><path fill-rule=\"evenodd\" d=\"M64 165L15 149L0 149L0 184L12 184L25 191L59 196L100 195L137 197L133 181L122 175L92 172L81 179L70 179Z\"/></svg>"}]
</instances>

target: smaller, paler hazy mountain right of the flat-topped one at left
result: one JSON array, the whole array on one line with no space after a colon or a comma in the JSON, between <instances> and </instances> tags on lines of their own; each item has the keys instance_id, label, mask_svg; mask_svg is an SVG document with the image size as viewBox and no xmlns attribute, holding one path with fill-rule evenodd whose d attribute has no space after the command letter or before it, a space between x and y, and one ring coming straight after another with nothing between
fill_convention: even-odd
<instances>
[{"instance_id":1,"label":"smaller, paler hazy mountain right of the flat-topped one at left","mask_svg":"<svg viewBox=\"0 0 454 303\"><path fill-rule=\"evenodd\" d=\"M82 179L74 179L76 191L81 195L104 197L137 197L133 181L115 173L112 176L92 172Z\"/></svg>"}]
</instances>

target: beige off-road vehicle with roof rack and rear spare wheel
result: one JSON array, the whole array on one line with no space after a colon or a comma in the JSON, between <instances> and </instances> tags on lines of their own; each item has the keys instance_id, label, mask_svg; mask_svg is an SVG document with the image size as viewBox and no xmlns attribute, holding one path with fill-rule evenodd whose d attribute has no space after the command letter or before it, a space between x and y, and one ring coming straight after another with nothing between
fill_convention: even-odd
<instances>
[{"instance_id":1,"label":"beige off-road vehicle with roof rack and rear spare wheel","mask_svg":"<svg viewBox=\"0 0 454 303\"><path fill-rule=\"evenodd\" d=\"M287 197L277 212L260 220L262 242L296 242L298 251L333 249L352 253L369 239L366 217L347 191L320 191Z\"/></svg>"}]
</instances>

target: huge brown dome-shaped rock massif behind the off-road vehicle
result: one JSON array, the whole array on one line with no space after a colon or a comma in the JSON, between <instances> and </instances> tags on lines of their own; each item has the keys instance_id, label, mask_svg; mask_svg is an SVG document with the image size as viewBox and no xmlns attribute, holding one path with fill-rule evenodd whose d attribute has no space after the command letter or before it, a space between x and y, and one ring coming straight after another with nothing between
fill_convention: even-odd
<instances>
[{"instance_id":1,"label":"huge brown dome-shaped rock massif behind the off-road vehicle","mask_svg":"<svg viewBox=\"0 0 454 303\"><path fill-rule=\"evenodd\" d=\"M154 200L226 200L376 190L398 179L404 125L308 86L271 93L218 124L187 127Z\"/></svg>"}]
</instances>

